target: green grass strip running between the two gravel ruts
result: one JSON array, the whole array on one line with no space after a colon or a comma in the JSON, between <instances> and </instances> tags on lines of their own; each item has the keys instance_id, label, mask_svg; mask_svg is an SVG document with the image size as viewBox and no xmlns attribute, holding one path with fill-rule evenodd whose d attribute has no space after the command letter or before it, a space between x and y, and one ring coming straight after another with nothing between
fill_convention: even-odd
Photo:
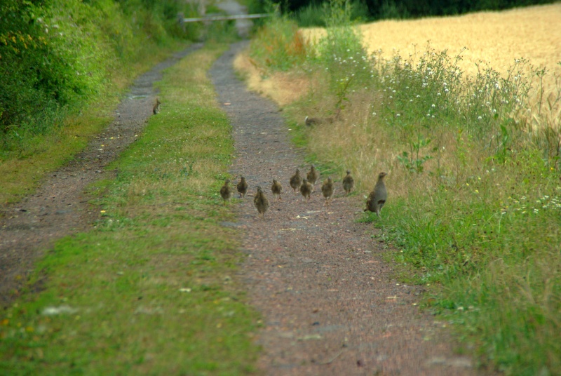
<instances>
[{"instance_id":1,"label":"green grass strip running between the two gravel ruts","mask_svg":"<svg viewBox=\"0 0 561 376\"><path fill-rule=\"evenodd\" d=\"M44 290L0 318L2 375L253 372L258 316L216 194L234 148L206 72L224 48L165 72L161 113L110 166L116 179L90 187L96 228L58 241L36 269Z\"/></svg>"}]
</instances>

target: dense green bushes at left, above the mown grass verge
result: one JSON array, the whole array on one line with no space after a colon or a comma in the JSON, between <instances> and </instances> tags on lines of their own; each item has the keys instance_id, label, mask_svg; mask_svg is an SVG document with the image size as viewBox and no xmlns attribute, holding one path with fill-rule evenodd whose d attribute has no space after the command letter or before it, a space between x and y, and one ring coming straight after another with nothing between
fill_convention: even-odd
<instances>
[{"instance_id":1,"label":"dense green bushes at left, above the mown grass verge","mask_svg":"<svg viewBox=\"0 0 561 376\"><path fill-rule=\"evenodd\" d=\"M0 6L1 150L63 126L151 50L196 36L175 1L8 0Z\"/></svg>"}]
</instances>

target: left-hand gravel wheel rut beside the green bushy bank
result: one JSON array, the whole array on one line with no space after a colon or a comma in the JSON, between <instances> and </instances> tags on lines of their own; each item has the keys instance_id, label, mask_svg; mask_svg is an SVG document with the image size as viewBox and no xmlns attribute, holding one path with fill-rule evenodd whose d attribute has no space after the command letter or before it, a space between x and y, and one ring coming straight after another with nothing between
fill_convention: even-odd
<instances>
[{"instance_id":1,"label":"left-hand gravel wheel rut beside the green bushy bank","mask_svg":"<svg viewBox=\"0 0 561 376\"><path fill-rule=\"evenodd\" d=\"M116 119L81 154L47 177L25 201L0 207L0 307L18 297L41 250L97 219L99 214L90 212L84 189L107 175L103 167L134 142L146 125L155 102L152 83L161 79L163 69L201 46L193 44L142 74L119 105Z\"/></svg>"}]
</instances>

